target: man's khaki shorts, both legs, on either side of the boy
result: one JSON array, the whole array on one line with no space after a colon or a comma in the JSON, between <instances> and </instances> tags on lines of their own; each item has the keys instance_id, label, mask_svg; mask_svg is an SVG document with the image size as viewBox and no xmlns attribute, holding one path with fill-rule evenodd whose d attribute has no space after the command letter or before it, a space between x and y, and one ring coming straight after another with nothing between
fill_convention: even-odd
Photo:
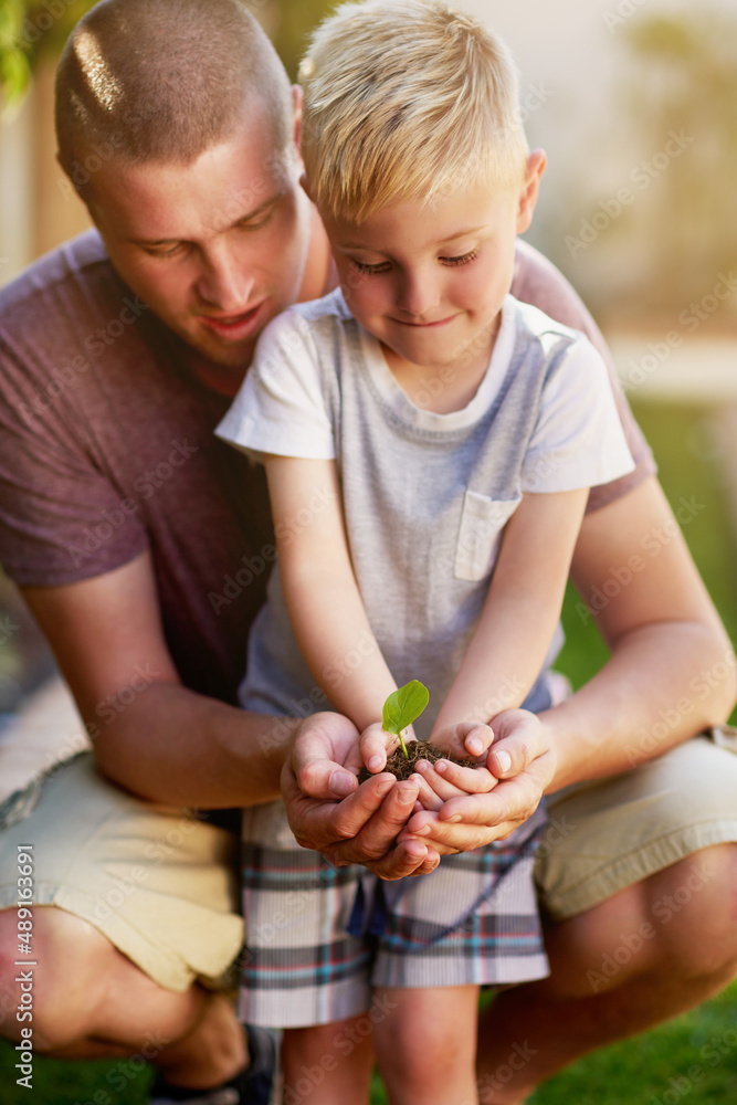
<instances>
[{"instance_id":1,"label":"man's khaki shorts, both legs, on either side of the boy","mask_svg":"<svg viewBox=\"0 0 737 1105\"><path fill-rule=\"evenodd\" d=\"M710 844L737 841L737 739L696 737L633 772L548 799L540 898L564 918ZM36 905L90 922L160 986L218 979L236 957L233 841L186 810L105 782L90 754L59 769L33 811L0 832L0 908L17 902L30 844Z\"/></svg>"}]
</instances>

